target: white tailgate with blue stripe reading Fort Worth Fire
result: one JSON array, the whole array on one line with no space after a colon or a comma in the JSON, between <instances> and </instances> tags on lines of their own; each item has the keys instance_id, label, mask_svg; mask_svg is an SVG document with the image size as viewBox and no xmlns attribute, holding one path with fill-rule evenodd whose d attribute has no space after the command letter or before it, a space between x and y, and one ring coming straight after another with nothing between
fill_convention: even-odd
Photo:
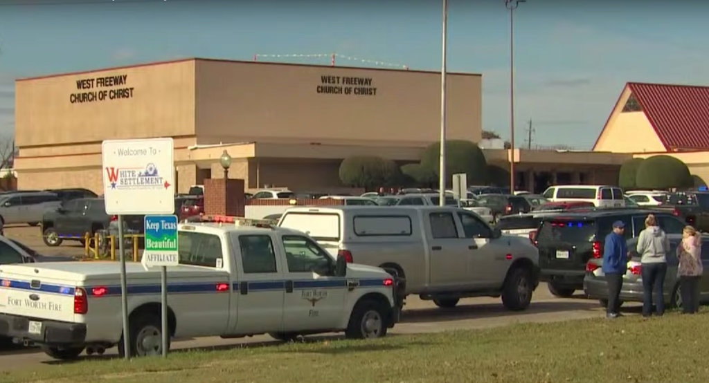
<instances>
[{"instance_id":1,"label":"white tailgate with blue stripe reading Fort Worth Fire","mask_svg":"<svg viewBox=\"0 0 709 383\"><path fill-rule=\"evenodd\" d=\"M0 313L73 322L75 286L76 281L49 278L32 267L2 265Z\"/></svg>"}]
</instances>

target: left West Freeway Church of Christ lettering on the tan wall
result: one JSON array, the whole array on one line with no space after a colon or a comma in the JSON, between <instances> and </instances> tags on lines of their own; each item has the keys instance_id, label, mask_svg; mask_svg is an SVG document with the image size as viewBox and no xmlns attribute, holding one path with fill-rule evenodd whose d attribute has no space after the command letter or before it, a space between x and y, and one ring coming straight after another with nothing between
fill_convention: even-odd
<instances>
[{"instance_id":1,"label":"left West Freeway Church of Christ lettering on the tan wall","mask_svg":"<svg viewBox=\"0 0 709 383\"><path fill-rule=\"evenodd\" d=\"M133 98L133 86L128 86L128 74L79 79L77 91L69 94L69 102L72 104L122 98Z\"/></svg>"}]
</instances>

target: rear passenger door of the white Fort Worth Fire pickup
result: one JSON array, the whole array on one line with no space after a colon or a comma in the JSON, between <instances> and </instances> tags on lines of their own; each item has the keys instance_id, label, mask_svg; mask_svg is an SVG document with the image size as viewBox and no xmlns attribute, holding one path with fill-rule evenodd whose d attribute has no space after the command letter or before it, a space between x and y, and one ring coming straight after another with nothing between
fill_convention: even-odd
<instances>
[{"instance_id":1,"label":"rear passenger door of the white Fort Worth Fire pickup","mask_svg":"<svg viewBox=\"0 0 709 383\"><path fill-rule=\"evenodd\" d=\"M232 334L281 331L283 327L284 265L276 256L277 239L268 234L232 232L230 242L237 266L238 306Z\"/></svg>"}]
</instances>

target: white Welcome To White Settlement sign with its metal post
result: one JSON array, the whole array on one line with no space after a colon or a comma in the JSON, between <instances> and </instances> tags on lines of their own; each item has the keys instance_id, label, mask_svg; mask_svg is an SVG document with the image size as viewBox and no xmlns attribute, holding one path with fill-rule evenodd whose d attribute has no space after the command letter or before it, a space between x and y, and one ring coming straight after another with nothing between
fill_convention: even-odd
<instances>
[{"instance_id":1,"label":"white Welcome To White Settlement sign with its metal post","mask_svg":"<svg viewBox=\"0 0 709 383\"><path fill-rule=\"evenodd\" d=\"M128 336L130 331L123 215L174 214L173 151L172 138L110 139L101 144L106 214L118 216L125 359L130 358L130 336ZM166 329L163 328L162 332L165 331Z\"/></svg>"}]
</instances>

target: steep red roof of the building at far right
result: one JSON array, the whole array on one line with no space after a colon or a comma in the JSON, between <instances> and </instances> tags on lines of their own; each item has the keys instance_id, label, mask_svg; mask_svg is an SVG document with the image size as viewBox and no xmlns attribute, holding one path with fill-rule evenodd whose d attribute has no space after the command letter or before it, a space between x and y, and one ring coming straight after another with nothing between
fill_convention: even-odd
<instances>
[{"instance_id":1,"label":"steep red roof of the building at far right","mask_svg":"<svg viewBox=\"0 0 709 383\"><path fill-rule=\"evenodd\" d=\"M709 149L709 86L627 86L668 152Z\"/></svg>"}]
</instances>

